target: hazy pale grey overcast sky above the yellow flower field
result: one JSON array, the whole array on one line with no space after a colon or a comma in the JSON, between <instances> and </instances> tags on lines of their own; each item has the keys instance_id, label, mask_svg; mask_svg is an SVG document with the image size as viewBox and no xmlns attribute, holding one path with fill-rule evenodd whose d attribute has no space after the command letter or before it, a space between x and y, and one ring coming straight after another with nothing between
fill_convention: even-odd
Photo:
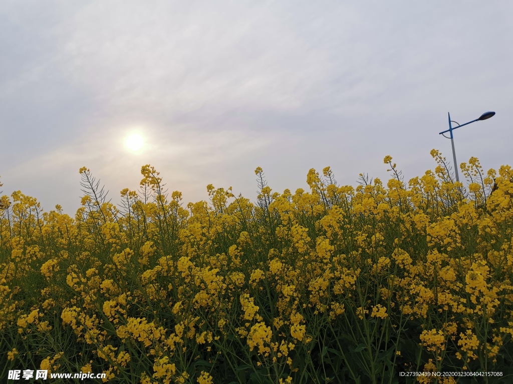
<instances>
[{"instance_id":1,"label":"hazy pale grey overcast sky above the yellow flower field","mask_svg":"<svg viewBox=\"0 0 513 384\"><path fill-rule=\"evenodd\" d=\"M80 207L87 166L108 199L151 164L184 206L206 186L255 201L310 168L405 181L458 163L513 166L513 3L23 1L0 7L0 187ZM128 148L131 135L143 145ZM133 136L132 136L133 138Z\"/></svg>"}]
</instances>

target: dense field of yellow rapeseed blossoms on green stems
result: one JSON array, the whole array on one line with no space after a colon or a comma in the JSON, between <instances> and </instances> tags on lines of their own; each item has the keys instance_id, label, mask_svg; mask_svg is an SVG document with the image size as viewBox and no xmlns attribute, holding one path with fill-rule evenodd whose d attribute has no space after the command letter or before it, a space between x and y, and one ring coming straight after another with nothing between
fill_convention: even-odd
<instances>
[{"instance_id":1,"label":"dense field of yellow rapeseed blossoms on green stems","mask_svg":"<svg viewBox=\"0 0 513 384\"><path fill-rule=\"evenodd\" d=\"M259 167L255 203L210 184L184 206L150 165L118 206L81 168L74 217L3 196L1 379L513 381L513 169L471 158L464 185L431 155L407 183L386 156L386 184L326 167L282 194Z\"/></svg>"}]
</instances>

